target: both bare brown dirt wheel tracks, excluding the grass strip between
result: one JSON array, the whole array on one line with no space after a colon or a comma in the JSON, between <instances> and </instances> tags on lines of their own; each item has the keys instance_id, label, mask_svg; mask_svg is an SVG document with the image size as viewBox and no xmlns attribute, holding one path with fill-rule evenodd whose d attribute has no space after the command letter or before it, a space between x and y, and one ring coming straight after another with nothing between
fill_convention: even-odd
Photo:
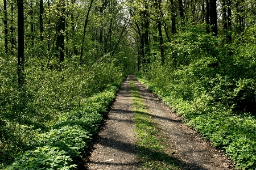
<instances>
[{"instance_id":1,"label":"both bare brown dirt wheel tracks, excluding the grass strip between","mask_svg":"<svg viewBox=\"0 0 256 170\"><path fill-rule=\"evenodd\" d=\"M195 130L185 126L182 118L166 107L132 74L123 81L98 134L97 143L88 158L88 169L140 169L130 81L134 82L146 105L148 116L154 120L158 135L163 138L165 152L169 153L171 159L178 160L180 169L234 169L230 159L210 145L210 142L201 139Z\"/></svg>"}]
</instances>

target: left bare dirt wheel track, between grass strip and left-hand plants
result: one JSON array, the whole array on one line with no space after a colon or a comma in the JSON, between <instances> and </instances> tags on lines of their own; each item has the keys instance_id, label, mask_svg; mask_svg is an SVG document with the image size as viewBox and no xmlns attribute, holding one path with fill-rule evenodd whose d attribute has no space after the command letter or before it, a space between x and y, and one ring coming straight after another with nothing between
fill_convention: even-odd
<instances>
[{"instance_id":1,"label":"left bare dirt wheel track, between grass strip and left-hand plants","mask_svg":"<svg viewBox=\"0 0 256 170\"><path fill-rule=\"evenodd\" d=\"M131 75L121 85L109 118L90 156L88 169L138 169L130 80Z\"/></svg>"}]
</instances>

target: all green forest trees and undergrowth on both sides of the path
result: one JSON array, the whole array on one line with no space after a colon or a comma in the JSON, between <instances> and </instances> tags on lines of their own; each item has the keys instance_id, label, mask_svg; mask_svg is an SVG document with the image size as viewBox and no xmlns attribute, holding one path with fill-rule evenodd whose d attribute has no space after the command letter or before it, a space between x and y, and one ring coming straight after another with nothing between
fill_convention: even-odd
<instances>
[{"instance_id":1,"label":"all green forest trees and undergrowth on both sides of the path","mask_svg":"<svg viewBox=\"0 0 256 170\"><path fill-rule=\"evenodd\" d=\"M256 1L3 0L0 169L80 169L128 73L256 168Z\"/></svg>"}]
</instances>

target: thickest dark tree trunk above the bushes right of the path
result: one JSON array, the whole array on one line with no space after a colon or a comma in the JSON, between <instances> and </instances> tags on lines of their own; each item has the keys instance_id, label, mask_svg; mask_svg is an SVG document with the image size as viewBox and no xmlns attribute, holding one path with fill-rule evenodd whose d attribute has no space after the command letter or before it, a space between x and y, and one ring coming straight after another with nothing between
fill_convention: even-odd
<instances>
[{"instance_id":1,"label":"thickest dark tree trunk above the bushes right of the path","mask_svg":"<svg viewBox=\"0 0 256 170\"><path fill-rule=\"evenodd\" d=\"M217 0L210 0L210 26L214 36L218 36L217 28Z\"/></svg>"}]
</instances>

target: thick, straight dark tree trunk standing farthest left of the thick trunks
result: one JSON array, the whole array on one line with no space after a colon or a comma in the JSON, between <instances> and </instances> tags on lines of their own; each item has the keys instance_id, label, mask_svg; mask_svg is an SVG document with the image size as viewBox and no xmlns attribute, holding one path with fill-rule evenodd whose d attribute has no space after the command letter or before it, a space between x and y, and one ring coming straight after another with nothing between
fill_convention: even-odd
<instances>
[{"instance_id":1,"label":"thick, straight dark tree trunk standing farthest left of the thick trunks","mask_svg":"<svg viewBox=\"0 0 256 170\"><path fill-rule=\"evenodd\" d=\"M24 71L24 12L23 0L18 0L18 85L23 85Z\"/></svg>"}]
</instances>

